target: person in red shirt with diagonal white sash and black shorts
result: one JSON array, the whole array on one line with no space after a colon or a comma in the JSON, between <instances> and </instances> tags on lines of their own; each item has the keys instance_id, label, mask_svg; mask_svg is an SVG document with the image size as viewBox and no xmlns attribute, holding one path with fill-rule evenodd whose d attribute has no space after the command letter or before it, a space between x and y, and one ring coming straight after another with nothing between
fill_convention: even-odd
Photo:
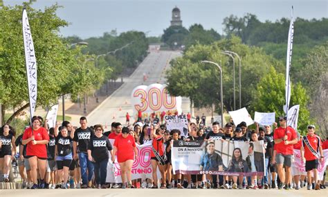
<instances>
[{"instance_id":1,"label":"person in red shirt with diagonal white sash and black shorts","mask_svg":"<svg viewBox=\"0 0 328 197\"><path fill-rule=\"evenodd\" d=\"M301 156L303 162L305 162L305 171L307 171L307 178L309 184L307 189L313 189L311 184L311 173L313 171L314 183L316 184L315 189L320 189L320 181L318 181L318 165L324 161L321 147L321 139L318 135L314 134L316 126L307 126L307 136L302 139ZM320 153L320 155L319 155Z\"/></svg>"}]
</instances>

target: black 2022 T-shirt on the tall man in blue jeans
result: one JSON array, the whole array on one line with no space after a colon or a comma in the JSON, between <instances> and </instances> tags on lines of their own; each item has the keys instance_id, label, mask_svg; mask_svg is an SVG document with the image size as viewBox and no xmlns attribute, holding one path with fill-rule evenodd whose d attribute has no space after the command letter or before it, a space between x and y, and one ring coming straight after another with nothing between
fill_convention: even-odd
<instances>
[{"instance_id":1,"label":"black 2022 T-shirt on the tall man in blue jeans","mask_svg":"<svg viewBox=\"0 0 328 197\"><path fill-rule=\"evenodd\" d=\"M74 133L74 142L78 142L78 148L80 153L86 153L89 146L89 141L95 136L95 132L91 128L78 128Z\"/></svg>"}]
</instances>

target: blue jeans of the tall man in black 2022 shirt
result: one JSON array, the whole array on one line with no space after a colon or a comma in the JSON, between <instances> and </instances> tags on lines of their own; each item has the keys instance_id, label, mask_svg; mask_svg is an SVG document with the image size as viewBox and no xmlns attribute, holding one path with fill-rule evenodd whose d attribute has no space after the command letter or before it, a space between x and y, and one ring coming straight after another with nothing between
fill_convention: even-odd
<instances>
[{"instance_id":1,"label":"blue jeans of the tall man in black 2022 shirt","mask_svg":"<svg viewBox=\"0 0 328 197\"><path fill-rule=\"evenodd\" d=\"M93 163L88 160L88 154L78 153L81 168L82 185L88 185L88 182L93 176ZM86 168L88 168L88 175L86 175Z\"/></svg>"}]
</instances>

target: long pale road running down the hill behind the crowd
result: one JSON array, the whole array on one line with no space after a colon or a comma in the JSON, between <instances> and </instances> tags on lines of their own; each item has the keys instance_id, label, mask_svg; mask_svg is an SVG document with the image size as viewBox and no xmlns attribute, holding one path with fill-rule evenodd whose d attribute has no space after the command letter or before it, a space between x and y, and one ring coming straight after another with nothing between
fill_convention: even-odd
<instances>
[{"instance_id":1,"label":"long pale road running down the hill behind the crowd","mask_svg":"<svg viewBox=\"0 0 328 197\"><path fill-rule=\"evenodd\" d=\"M170 67L170 60L179 56L181 56L179 51L151 51L136 71L129 78L125 78L125 83L87 116L89 125L95 123L110 125L112 121L125 123L125 114L129 112L131 115L133 112L130 98L134 87L152 83L164 84L165 70ZM144 74L147 75L145 82ZM183 112L189 112L189 100L183 98L182 103Z\"/></svg>"}]
</instances>

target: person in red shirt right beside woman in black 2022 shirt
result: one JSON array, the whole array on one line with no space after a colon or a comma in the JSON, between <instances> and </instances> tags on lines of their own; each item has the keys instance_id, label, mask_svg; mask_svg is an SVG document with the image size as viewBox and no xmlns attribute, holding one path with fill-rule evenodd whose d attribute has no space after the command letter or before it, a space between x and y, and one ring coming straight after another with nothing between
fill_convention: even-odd
<instances>
[{"instance_id":1,"label":"person in red shirt right beside woman in black 2022 shirt","mask_svg":"<svg viewBox=\"0 0 328 197\"><path fill-rule=\"evenodd\" d=\"M118 164L120 164L120 169L122 171L122 189L126 187L131 188L131 169L134 159L138 158L138 150L134 137L129 135L129 128L122 128L122 135L116 137L113 146L113 155L117 153ZM115 162L115 157L112 157L111 160Z\"/></svg>"}]
</instances>

